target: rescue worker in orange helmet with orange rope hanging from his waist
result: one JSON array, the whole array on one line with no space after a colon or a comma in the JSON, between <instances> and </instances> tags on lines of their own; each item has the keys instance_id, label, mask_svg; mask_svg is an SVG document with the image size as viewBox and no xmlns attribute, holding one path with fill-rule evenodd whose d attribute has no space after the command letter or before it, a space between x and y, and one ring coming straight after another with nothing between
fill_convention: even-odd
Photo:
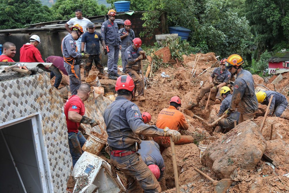
<instances>
[{"instance_id":1,"label":"rescue worker in orange helmet with orange rope hanging from his waist","mask_svg":"<svg viewBox=\"0 0 289 193\"><path fill-rule=\"evenodd\" d=\"M80 77L80 63L81 58L88 58L88 54L77 52L77 45L75 40L83 33L83 29L79 24L73 25L71 27L71 34L67 34L61 45L62 55L64 58L64 68L69 76L69 87L72 95L77 94L77 89L81 84Z\"/></svg>"}]
</instances>

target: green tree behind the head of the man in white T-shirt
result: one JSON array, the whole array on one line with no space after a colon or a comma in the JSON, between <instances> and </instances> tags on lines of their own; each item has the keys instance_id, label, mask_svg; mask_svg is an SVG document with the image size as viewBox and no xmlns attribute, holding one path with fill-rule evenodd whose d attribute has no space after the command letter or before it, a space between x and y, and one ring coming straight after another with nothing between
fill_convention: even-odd
<instances>
[{"instance_id":1,"label":"green tree behind the head of the man in white T-shirt","mask_svg":"<svg viewBox=\"0 0 289 193\"><path fill-rule=\"evenodd\" d=\"M51 7L56 20L75 17L75 10L77 9L82 10L83 16L96 16L107 13L105 5L98 5L95 0L57 0Z\"/></svg>"}]
</instances>

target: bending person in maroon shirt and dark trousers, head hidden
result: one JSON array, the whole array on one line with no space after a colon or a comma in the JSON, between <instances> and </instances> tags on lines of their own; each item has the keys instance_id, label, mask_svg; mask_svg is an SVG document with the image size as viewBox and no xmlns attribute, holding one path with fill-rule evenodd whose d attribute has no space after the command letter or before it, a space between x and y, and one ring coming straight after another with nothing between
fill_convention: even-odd
<instances>
[{"instance_id":1,"label":"bending person in maroon shirt and dark trousers, head hidden","mask_svg":"<svg viewBox=\"0 0 289 193\"><path fill-rule=\"evenodd\" d=\"M58 89L61 80L62 80L62 74L60 71L62 71L63 74L68 76L65 68L64 68L64 58L61 56L48 56L46 58L46 62L52 63L52 65L49 67L50 72L50 79L52 79L55 76L54 81L54 87ZM60 70L60 71L59 71Z\"/></svg>"}]
</instances>

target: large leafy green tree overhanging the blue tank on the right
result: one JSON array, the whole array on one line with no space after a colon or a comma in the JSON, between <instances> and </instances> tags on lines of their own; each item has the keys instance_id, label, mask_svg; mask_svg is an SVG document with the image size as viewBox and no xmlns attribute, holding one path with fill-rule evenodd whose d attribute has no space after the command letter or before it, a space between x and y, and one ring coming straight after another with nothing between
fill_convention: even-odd
<instances>
[{"instance_id":1,"label":"large leafy green tree overhanging the blue tank on the right","mask_svg":"<svg viewBox=\"0 0 289 193\"><path fill-rule=\"evenodd\" d=\"M150 11L143 14L150 36L160 24L160 15L166 14L168 26L182 26L192 30L190 43L202 52L215 52L222 57L233 53L249 52L247 41L252 38L249 22L232 12L227 0L161 0L150 4Z\"/></svg>"}]
</instances>

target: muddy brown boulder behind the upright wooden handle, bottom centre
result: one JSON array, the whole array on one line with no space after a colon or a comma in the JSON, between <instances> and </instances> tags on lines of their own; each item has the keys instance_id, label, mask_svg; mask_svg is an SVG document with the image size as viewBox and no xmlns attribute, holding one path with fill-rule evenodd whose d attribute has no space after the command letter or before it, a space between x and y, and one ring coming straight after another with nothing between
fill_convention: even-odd
<instances>
[{"instance_id":1,"label":"muddy brown boulder behind the upright wooden handle, bottom centre","mask_svg":"<svg viewBox=\"0 0 289 193\"><path fill-rule=\"evenodd\" d=\"M188 175L184 174L197 174L196 171L192 170L192 167L201 167L199 159L199 148L195 144L184 144L184 145L175 145L176 150L176 159L177 159L177 168L180 179L180 184L186 184ZM175 178L174 178L174 169L172 162L172 151L171 147L168 147L162 153L164 158L164 163L166 166L165 178L166 186L169 188L175 187ZM191 175L189 175L191 176Z\"/></svg>"}]
</instances>

